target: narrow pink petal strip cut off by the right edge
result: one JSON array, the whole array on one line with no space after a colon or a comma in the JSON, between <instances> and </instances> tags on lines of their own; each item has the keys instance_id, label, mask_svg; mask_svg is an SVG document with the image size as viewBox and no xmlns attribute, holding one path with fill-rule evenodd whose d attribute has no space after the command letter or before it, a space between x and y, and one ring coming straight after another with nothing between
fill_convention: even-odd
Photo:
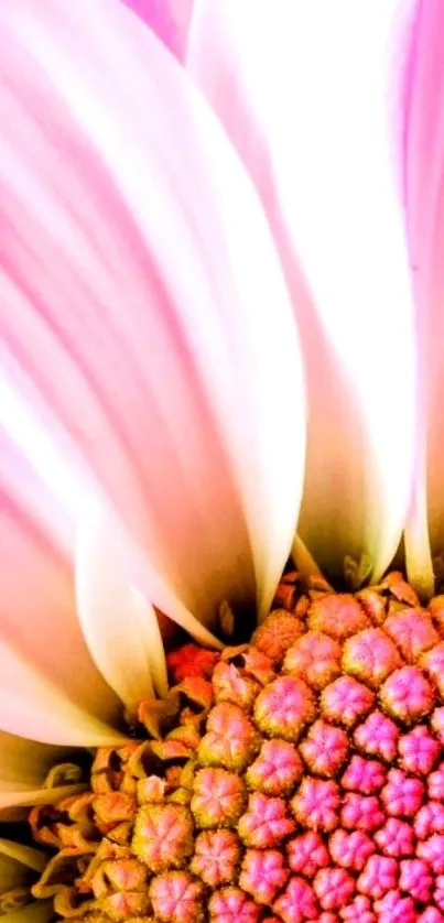
<instances>
[{"instance_id":1,"label":"narrow pink petal strip cut off by the right edge","mask_svg":"<svg viewBox=\"0 0 444 923\"><path fill-rule=\"evenodd\" d=\"M399 36L407 58L403 192L420 351L415 490L405 547L410 579L430 595L433 569L440 582L444 575L444 8L430 0L414 4L414 12L410 32Z\"/></svg>"}]
</instances>

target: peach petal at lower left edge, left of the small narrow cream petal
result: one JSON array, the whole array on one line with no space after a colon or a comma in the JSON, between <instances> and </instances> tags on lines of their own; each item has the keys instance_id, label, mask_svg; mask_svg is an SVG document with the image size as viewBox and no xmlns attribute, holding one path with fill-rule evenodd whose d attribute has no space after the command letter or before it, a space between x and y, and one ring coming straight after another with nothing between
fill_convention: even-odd
<instances>
[{"instance_id":1,"label":"peach petal at lower left edge, left of the small narrow cream petal","mask_svg":"<svg viewBox=\"0 0 444 923\"><path fill-rule=\"evenodd\" d=\"M101 721L117 717L119 703L83 638L68 562L33 517L32 506L41 508L47 491L10 443L4 441L2 448L18 466L9 489L0 485L0 728L29 738L36 734L34 739L44 742L82 745L86 740L79 734L89 726L102 739L106 724ZM4 455L0 467L3 459ZM26 484L30 509L18 499ZM31 687L36 697L26 702ZM77 718L77 730L66 725ZM46 735L45 726L55 737ZM109 727L107 734L113 734Z\"/></svg>"}]
</instances>

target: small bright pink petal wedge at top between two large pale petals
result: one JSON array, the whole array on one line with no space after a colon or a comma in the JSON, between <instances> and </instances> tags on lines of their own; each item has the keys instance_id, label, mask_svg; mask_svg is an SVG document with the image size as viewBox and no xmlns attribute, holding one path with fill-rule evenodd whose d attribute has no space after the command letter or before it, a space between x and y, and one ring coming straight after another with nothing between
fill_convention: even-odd
<instances>
[{"instance_id":1,"label":"small bright pink petal wedge at top between two large pale petals","mask_svg":"<svg viewBox=\"0 0 444 923\"><path fill-rule=\"evenodd\" d=\"M194 0L123 0L180 59L184 57Z\"/></svg>"}]
</instances>

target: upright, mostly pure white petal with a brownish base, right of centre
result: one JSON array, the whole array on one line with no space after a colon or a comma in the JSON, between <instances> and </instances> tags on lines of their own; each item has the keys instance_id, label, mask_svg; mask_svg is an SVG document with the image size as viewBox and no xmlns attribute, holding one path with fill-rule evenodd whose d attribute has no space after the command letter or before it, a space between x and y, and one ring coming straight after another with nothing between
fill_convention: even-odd
<instances>
[{"instance_id":1,"label":"upright, mostly pure white petal with a brownish base, right of centre","mask_svg":"<svg viewBox=\"0 0 444 923\"><path fill-rule=\"evenodd\" d=\"M378 578L411 490L414 350L388 120L398 0L199 0L187 65L261 194L308 381L300 533ZM290 424L289 419L289 424Z\"/></svg>"}]
</instances>

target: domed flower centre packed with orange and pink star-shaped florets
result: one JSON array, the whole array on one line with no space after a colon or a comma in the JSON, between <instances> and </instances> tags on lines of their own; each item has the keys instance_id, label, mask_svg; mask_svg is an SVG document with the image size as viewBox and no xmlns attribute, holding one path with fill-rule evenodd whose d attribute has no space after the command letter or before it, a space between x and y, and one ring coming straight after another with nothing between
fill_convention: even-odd
<instances>
[{"instance_id":1,"label":"domed flower centre packed with orange and pink star-shaped florets","mask_svg":"<svg viewBox=\"0 0 444 923\"><path fill-rule=\"evenodd\" d=\"M290 575L277 600L249 644L171 654L149 739L33 808L55 919L444 921L444 597Z\"/></svg>"}]
</instances>

